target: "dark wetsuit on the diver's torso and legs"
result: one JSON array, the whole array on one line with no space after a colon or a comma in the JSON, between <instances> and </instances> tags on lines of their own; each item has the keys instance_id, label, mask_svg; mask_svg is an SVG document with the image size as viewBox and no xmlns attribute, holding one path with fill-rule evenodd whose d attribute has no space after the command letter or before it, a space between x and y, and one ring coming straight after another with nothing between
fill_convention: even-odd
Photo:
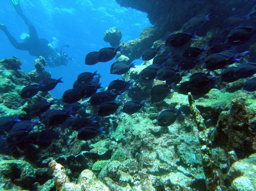
<instances>
[{"instance_id":1,"label":"dark wetsuit on the diver's torso and legs","mask_svg":"<svg viewBox=\"0 0 256 191\"><path fill-rule=\"evenodd\" d=\"M52 53L48 47L49 41L45 38L40 38L37 35L32 22L23 14L20 6L16 6L15 10L17 14L24 20L29 28L29 38L24 42L18 43L17 40L10 34L6 27L2 28L2 31L6 34L12 45L19 50L27 50L31 56L43 56L46 62L49 62L49 55Z\"/></svg>"}]
</instances>

